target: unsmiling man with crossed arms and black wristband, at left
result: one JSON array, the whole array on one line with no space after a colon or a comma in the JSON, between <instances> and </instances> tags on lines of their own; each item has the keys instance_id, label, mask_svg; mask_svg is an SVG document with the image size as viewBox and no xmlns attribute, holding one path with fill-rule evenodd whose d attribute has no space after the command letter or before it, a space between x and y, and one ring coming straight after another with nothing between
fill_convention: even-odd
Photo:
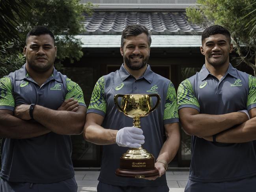
<instances>
[{"instance_id":1,"label":"unsmiling man with crossed arms and black wristband, at left","mask_svg":"<svg viewBox=\"0 0 256 192\"><path fill-rule=\"evenodd\" d=\"M54 69L57 47L44 26L26 37L26 63L0 79L0 191L77 192L71 134L82 132L81 88Z\"/></svg>"}]
</instances>

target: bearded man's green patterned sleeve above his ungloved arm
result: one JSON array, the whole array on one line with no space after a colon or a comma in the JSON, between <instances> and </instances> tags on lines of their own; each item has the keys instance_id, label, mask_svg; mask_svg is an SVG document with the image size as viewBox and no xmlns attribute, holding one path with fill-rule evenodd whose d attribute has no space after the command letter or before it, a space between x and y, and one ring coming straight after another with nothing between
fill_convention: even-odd
<instances>
[{"instance_id":1,"label":"bearded man's green patterned sleeve above his ungloved arm","mask_svg":"<svg viewBox=\"0 0 256 192\"><path fill-rule=\"evenodd\" d=\"M168 85L166 100L164 104L164 120L179 118L177 107L177 96L172 82Z\"/></svg>"}]
</instances>

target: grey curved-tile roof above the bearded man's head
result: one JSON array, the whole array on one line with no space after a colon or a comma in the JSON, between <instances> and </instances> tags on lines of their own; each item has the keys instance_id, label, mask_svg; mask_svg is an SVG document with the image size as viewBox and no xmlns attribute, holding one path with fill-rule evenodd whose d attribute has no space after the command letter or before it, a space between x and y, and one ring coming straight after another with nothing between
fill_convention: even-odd
<instances>
[{"instance_id":1,"label":"grey curved-tile roof above the bearded man's head","mask_svg":"<svg viewBox=\"0 0 256 192\"><path fill-rule=\"evenodd\" d=\"M130 24L142 24L151 34L158 35L198 35L203 32L200 26L189 24L182 11L95 11L92 16L85 15L84 34L121 34Z\"/></svg>"}]
</instances>

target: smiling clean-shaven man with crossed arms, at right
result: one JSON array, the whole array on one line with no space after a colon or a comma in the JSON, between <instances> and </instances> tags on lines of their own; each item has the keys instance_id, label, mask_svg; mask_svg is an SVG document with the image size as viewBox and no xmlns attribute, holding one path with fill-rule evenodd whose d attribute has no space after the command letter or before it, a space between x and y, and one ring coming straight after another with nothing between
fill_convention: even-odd
<instances>
[{"instance_id":1,"label":"smiling clean-shaven man with crossed arms, at right","mask_svg":"<svg viewBox=\"0 0 256 192\"><path fill-rule=\"evenodd\" d=\"M230 138L226 142L216 137L228 136L234 126L249 119L249 114L256 115L256 78L229 63L233 45L222 26L206 28L200 50L205 56L201 71L178 88L180 122L192 135L185 192L253 192L256 156L252 139L237 142Z\"/></svg>"}]
</instances>

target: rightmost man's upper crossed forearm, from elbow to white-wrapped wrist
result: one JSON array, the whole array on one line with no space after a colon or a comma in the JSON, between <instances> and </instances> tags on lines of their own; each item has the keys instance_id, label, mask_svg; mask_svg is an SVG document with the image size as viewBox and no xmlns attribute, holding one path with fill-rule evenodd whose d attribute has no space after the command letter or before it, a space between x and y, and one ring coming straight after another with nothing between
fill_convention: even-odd
<instances>
[{"instance_id":1,"label":"rightmost man's upper crossed forearm, from elbow to white-wrapped wrist","mask_svg":"<svg viewBox=\"0 0 256 192\"><path fill-rule=\"evenodd\" d=\"M187 134L204 137L230 129L247 120L248 117L243 112L223 115L195 114L187 118L185 123L181 118L181 124Z\"/></svg>"}]
</instances>

